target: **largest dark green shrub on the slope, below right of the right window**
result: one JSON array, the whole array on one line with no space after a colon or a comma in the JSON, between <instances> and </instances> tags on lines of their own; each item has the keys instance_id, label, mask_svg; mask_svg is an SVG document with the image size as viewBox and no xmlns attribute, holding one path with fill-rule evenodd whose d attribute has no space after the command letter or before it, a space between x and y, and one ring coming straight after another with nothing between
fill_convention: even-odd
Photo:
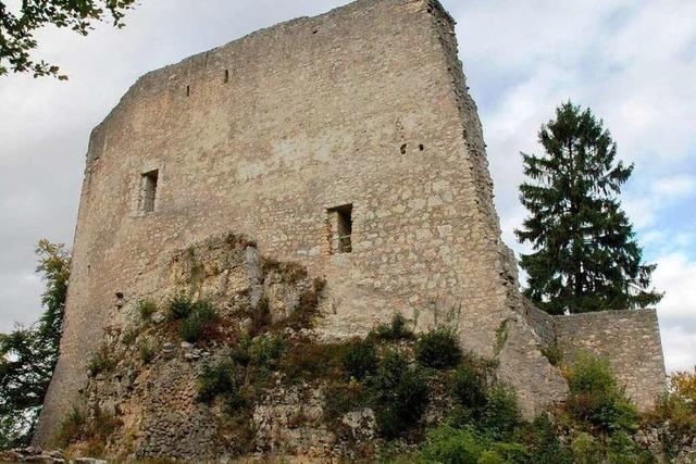
<instances>
[{"instance_id":1,"label":"largest dark green shrub on the slope, below right of the right window","mask_svg":"<svg viewBox=\"0 0 696 464\"><path fill-rule=\"evenodd\" d=\"M394 438L414 425L430 400L423 372L398 351L388 351L376 373L366 378L381 434Z\"/></svg>"}]
</instances>

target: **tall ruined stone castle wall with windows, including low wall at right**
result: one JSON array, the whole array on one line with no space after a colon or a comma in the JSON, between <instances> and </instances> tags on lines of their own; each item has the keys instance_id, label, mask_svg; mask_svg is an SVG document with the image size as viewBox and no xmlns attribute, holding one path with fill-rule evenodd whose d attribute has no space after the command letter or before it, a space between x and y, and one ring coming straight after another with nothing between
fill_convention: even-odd
<instances>
[{"instance_id":1,"label":"tall ruined stone castle wall with windows, including low wall at right","mask_svg":"<svg viewBox=\"0 0 696 464\"><path fill-rule=\"evenodd\" d=\"M90 137L36 443L78 400L112 311L156 291L172 253L227 231L326 279L326 339L456 309L463 347L498 360L529 415L567 392L551 343L610 355L642 404L663 388L654 312L551 317L520 296L455 22L435 0L358 0L126 92Z\"/></svg>"}]
</instances>

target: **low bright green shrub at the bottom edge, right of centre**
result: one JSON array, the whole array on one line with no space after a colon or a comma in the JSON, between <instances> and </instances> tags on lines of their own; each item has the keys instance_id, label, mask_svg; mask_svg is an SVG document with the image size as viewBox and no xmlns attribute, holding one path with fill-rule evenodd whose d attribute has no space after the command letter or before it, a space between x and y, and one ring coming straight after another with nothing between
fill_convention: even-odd
<instances>
[{"instance_id":1,"label":"low bright green shrub at the bottom edge, right of centre","mask_svg":"<svg viewBox=\"0 0 696 464\"><path fill-rule=\"evenodd\" d=\"M442 425L427 434L421 461L438 464L477 464L489 443L471 428Z\"/></svg>"}]
</instances>

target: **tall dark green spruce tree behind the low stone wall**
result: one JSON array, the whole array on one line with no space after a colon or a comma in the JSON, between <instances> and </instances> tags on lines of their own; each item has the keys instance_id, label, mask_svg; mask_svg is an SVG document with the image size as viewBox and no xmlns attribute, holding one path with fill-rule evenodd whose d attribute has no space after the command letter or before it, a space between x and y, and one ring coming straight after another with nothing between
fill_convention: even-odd
<instances>
[{"instance_id":1,"label":"tall dark green spruce tree behind the low stone wall","mask_svg":"<svg viewBox=\"0 0 696 464\"><path fill-rule=\"evenodd\" d=\"M524 293L551 314L626 310L655 304L650 289L656 265L642 263L643 250L621 209L621 186L633 165L617 161L617 145L589 109L570 101L543 125L542 155L522 153L520 199L529 210L521 243L527 273Z\"/></svg>"}]
</instances>

